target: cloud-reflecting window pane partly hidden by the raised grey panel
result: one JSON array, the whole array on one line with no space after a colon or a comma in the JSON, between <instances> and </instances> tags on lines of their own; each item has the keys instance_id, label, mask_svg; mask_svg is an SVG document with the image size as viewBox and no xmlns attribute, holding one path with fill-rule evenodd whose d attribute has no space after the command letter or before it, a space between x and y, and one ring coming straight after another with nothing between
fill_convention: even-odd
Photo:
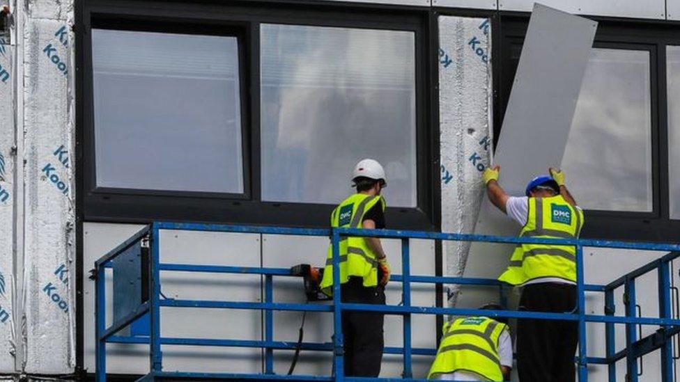
<instances>
[{"instance_id":1,"label":"cloud-reflecting window pane partly hidden by the raised grey panel","mask_svg":"<svg viewBox=\"0 0 680 382\"><path fill-rule=\"evenodd\" d=\"M651 212L647 50L592 49L562 168L585 209Z\"/></svg>"}]
</instances>

